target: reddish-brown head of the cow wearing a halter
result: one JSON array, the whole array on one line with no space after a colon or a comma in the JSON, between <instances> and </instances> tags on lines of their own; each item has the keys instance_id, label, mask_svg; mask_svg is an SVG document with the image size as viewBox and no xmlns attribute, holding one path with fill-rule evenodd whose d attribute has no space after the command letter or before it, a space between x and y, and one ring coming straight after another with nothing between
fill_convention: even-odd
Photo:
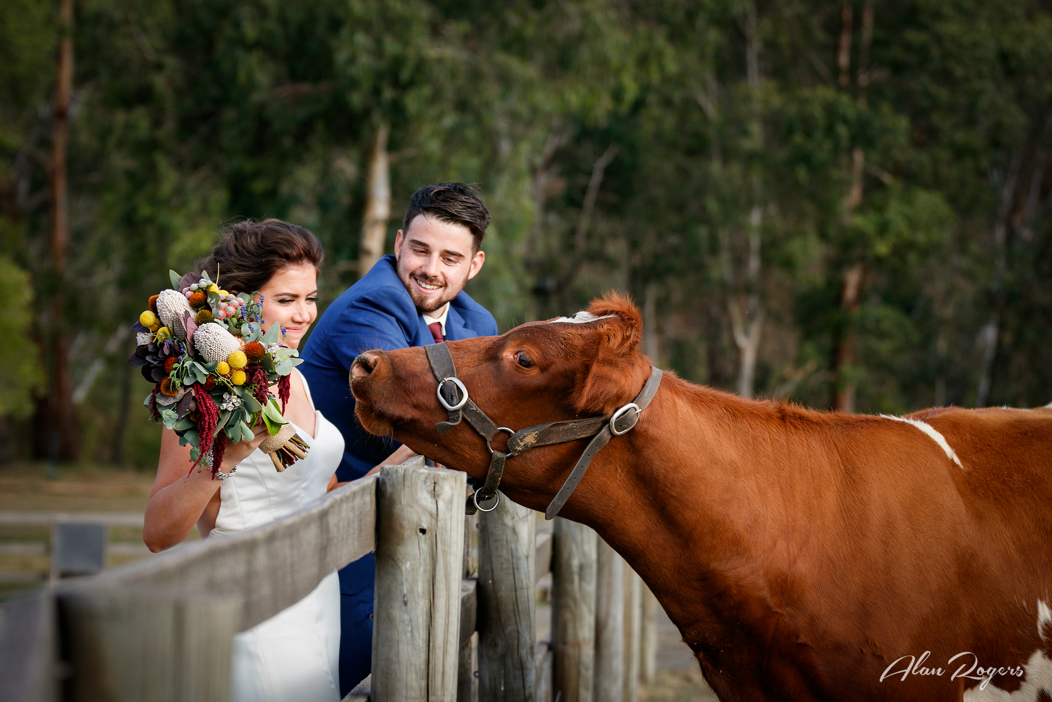
<instances>
[{"instance_id":1,"label":"reddish-brown head of the cow wearing a halter","mask_svg":"<svg viewBox=\"0 0 1052 702\"><path fill-rule=\"evenodd\" d=\"M639 352L641 328L631 300L611 294L572 319L451 341L449 353L458 378L482 410L500 426L521 429L609 417L631 402L650 375L650 361ZM485 477L489 452L467 421L443 436L434 429L448 413L439 404L438 383L422 347L366 352L355 360L350 378L356 412L367 430L391 436L473 478ZM503 449L503 442L499 438L493 447ZM543 510L586 444L542 446L509 459L501 489Z\"/></svg>"}]
</instances>

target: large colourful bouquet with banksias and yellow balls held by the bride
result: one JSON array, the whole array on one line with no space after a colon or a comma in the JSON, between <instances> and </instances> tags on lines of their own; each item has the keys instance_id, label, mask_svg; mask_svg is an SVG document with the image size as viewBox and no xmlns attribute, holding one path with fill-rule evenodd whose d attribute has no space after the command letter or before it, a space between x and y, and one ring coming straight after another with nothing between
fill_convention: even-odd
<instances>
[{"instance_id":1,"label":"large colourful bouquet with banksias and yellow balls held by the bride","mask_svg":"<svg viewBox=\"0 0 1052 702\"><path fill-rule=\"evenodd\" d=\"M263 296L231 295L207 273L168 275L171 289L151 296L132 325L138 346L129 362L156 383L143 402L154 421L191 446L190 470L204 462L214 477L226 477L219 473L224 440L249 441L260 422L270 435L260 448L278 472L306 458L306 443L282 416L288 376L303 361L281 345L280 324L263 334ZM280 408L268 389L275 383Z\"/></svg>"}]
</instances>

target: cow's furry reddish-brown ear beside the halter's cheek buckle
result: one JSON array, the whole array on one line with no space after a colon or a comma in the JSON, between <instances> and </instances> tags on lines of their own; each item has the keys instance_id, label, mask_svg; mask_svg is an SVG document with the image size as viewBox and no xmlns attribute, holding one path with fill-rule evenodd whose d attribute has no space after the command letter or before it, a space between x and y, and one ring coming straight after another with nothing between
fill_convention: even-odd
<instances>
[{"instance_id":1,"label":"cow's furry reddish-brown ear beside the halter's cheek buckle","mask_svg":"<svg viewBox=\"0 0 1052 702\"><path fill-rule=\"evenodd\" d=\"M588 312L607 319L595 323L590 343L581 349L587 362L578 370L573 405L580 414L609 415L632 401L650 373L636 352L643 322L632 301L618 294L593 301Z\"/></svg>"}]
</instances>

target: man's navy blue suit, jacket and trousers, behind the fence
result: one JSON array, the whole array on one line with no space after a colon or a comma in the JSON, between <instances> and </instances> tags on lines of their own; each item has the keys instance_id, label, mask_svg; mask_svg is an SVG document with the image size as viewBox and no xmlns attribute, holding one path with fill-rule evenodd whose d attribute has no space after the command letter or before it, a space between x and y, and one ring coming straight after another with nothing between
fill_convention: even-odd
<instances>
[{"instance_id":1,"label":"man's navy blue suit, jacket and trousers, behind the fence","mask_svg":"<svg viewBox=\"0 0 1052 702\"><path fill-rule=\"evenodd\" d=\"M359 354L370 348L405 348L434 343L423 315L399 280L393 256L385 256L337 298L307 339L299 368L310 384L315 406L343 434L340 481L356 480L398 448L398 442L375 437L358 423L348 374ZM446 340L494 336L497 322L466 293L458 295L446 318ZM369 674L372 651L372 583L376 560L370 554L340 570L340 695L345 696Z\"/></svg>"}]
</instances>

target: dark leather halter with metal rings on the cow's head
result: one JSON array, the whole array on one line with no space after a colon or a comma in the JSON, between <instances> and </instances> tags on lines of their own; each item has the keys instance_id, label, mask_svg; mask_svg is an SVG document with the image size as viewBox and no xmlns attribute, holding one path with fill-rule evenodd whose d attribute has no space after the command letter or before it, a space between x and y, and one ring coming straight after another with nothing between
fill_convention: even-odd
<instances>
[{"instance_id":1,"label":"dark leather halter with metal rings on the cow's head","mask_svg":"<svg viewBox=\"0 0 1052 702\"><path fill-rule=\"evenodd\" d=\"M445 434L460 424L462 417L466 418L468 424L474 427L474 430L486 440L486 448L489 449L489 469L486 473L486 480L482 487L476 489L468 498L466 507L468 515L473 515L476 510L492 512L497 508L500 501L497 488L501 484L501 476L504 474L504 464L507 459L521 456L537 446L548 446L594 437L545 510L544 518L553 519L566 504L566 501L570 499L573 488L584 478L585 470L588 469L591 460L610 441L611 437L621 436L635 426L635 423L640 421L640 416L650 404L650 400L653 399L654 394L658 393L658 386L661 384L661 370L651 366L650 378L647 379L635 399L622 405L610 417L590 417L538 424L515 432L506 426L498 426L468 396L467 387L457 377L453 357L445 343L428 344L424 346L424 350L427 352L427 360L431 363L431 373L439 381L437 390L439 402L449 413L448 421L436 424L434 430L439 434ZM508 435L506 452L497 450L492 446L493 439L501 432Z\"/></svg>"}]
</instances>

